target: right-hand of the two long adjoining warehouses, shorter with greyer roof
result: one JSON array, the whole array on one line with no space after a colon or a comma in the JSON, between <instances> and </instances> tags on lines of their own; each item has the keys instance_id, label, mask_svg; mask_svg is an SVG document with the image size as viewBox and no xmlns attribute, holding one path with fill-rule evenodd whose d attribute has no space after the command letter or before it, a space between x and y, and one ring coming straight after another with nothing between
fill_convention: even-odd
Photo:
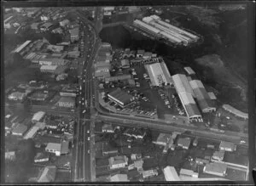
<instances>
[{"instance_id":1,"label":"right-hand of the two long adjoining warehouses, shorter with greyer roof","mask_svg":"<svg viewBox=\"0 0 256 186\"><path fill-rule=\"evenodd\" d=\"M189 83L195 93L195 99L199 104L201 111L203 113L216 111L216 107L214 107L202 82L200 80L192 80Z\"/></svg>"}]
</instances>

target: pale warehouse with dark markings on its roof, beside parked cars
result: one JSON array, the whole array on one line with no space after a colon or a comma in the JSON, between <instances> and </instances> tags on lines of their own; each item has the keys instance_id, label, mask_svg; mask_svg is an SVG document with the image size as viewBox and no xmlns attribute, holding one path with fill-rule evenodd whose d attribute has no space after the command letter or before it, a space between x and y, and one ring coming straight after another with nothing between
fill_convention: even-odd
<instances>
[{"instance_id":1,"label":"pale warehouse with dark markings on its roof, beside parked cars","mask_svg":"<svg viewBox=\"0 0 256 186\"><path fill-rule=\"evenodd\" d=\"M167 69L166 63L154 63L145 65L145 69L148 71L148 76L153 86L162 86L167 83L172 84L172 76Z\"/></svg>"}]
</instances>

